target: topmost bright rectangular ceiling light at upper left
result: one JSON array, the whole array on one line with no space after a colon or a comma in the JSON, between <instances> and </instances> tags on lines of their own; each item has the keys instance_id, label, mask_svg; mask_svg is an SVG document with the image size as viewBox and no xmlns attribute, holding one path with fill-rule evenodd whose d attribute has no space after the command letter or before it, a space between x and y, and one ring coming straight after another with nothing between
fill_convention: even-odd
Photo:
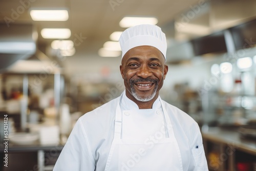
<instances>
[{"instance_id":1,"label":"topmost bright rectangular ceiling light at upper left","mask_svg":"<svg viewBox=\"0 0 256 171\"><path fill-rule=\"evenodd\" d=\"M67 21L69 19L67 10L31 10L30 15L34 21Z\"/></svg>"}]
</instances>

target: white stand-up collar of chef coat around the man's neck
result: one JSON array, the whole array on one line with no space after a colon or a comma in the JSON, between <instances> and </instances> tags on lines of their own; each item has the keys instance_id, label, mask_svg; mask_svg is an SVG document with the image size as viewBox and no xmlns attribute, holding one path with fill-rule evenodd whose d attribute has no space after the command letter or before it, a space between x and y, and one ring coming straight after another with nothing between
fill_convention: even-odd
<instances>
[{"instance_id":1,"label":"white stand-up collar of chef coat around the man's neck","mask_svg":"<svg viewBox=\"0 0 256 171\"><path fill-rule=\"evenodd\" d=\"M125 94L125 90L121 95L120 107L122 110L138 110L139 106ZM152 109L158 109L161 107L160 97L154 101Z\"/></svg>"}]
</instances>

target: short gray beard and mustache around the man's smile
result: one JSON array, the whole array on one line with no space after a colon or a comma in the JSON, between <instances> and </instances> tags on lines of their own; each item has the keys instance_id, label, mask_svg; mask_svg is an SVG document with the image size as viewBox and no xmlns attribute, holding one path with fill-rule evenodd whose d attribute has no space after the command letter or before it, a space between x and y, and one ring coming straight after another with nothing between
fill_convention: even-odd
<instances>
[{"instance_id":1,"label":"short gray beard and mustache around the man's smile","mask_svg":"<svg viewBox=\"0 0 256 171\"><path fill-rule=\"evenodd\" d=\"M135 82L138 82L138 81L141 81L140 80L137 80L137 81L130 81L130 84L131 84L131 93L132 95L134 96L134 98L138 101L142 101L142 102L146 102L146 101L150 101L152 100L155 96L156 96L156 93L157 93L157 88L158 88L158 81L157 80L153 80L151 82L154 82L156 85L155 85L155 88L154 88L154 92L150 95L150 96L147 96L147 97L140 97L137 95L136 91L135 91L135 88L134 88L134 83ZM147 79L145 79L145 82L147 81ZM143 82L143 81L141 81Z\"/></svg>"}]
</instances>

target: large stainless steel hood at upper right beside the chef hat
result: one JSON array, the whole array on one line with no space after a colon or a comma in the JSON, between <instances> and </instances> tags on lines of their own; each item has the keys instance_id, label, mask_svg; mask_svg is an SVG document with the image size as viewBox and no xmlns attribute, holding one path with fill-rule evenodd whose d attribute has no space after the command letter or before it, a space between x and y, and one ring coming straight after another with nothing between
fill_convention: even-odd
<instances>
[{"instance_id":1,"label":"large stainless steel hood at upper right beside the chef hat","mask_svg":"<svg viewBox=\"0 0 256 171\"><path fill-rule=\"evenodd\" d=\"M254 0L199 1L163 27L169 42L167 61L180 63L207 53L253 47L255 19Z\"/></svg>"}]
</instances>

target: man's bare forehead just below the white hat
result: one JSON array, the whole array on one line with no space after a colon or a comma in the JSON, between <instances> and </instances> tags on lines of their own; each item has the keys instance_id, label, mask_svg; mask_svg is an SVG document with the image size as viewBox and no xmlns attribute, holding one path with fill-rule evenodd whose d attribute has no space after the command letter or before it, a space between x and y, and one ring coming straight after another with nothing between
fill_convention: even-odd
<instances>
[{"instance_id":1,"label":"man's bare forehead just below the white hat","mask_svg":"<svg viewBox=\"0 0 256 171\"><path fill-rule=\"evenodd\" d=\"M154 58L158 58L161 61L162 60L165 61L163 54L153 46L138 46L138 47L132 48L125 53L122 61L126 61L127 59L132 57L143 57L143 58L154 57Z\"/></svg>"}]
</instances>

